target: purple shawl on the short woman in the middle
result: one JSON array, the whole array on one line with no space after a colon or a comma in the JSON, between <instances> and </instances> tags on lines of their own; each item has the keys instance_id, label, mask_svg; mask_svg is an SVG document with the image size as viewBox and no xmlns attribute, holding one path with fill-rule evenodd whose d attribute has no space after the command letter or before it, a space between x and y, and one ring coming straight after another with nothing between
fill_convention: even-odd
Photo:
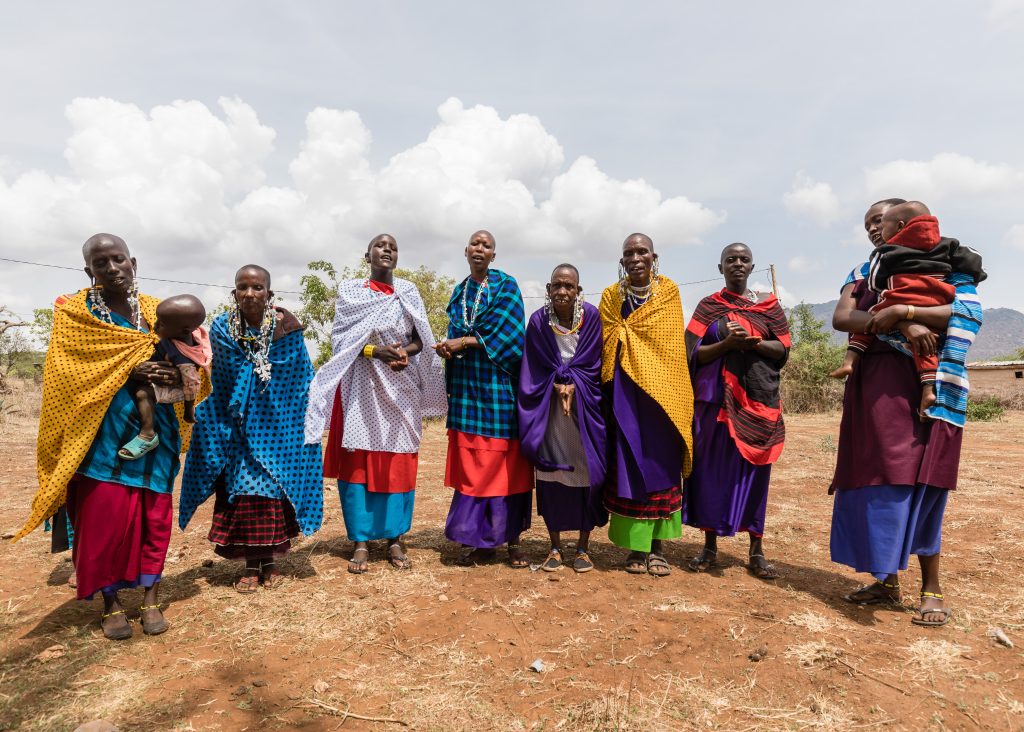
<instances>
[{"instance_id":1,"label":"purple shawl on the short woman in the middle","mask_svg":"<svg viewBox=\"0 0 1024 732\"><path fill-rule=\"evenodd\" d=\"M552 465L540 458L541 443L548 430L554 384L575 384L575 407L580 439L587 456L590 482L604 483L606 432L601 414L601 315L590 303L583 305L580 344L567 363L562 362L558 341L543 307L529 316L526 345L519 374L519 443L523 456L541 470L572 470L568 465Z\"/></svg>"}]
</instances>

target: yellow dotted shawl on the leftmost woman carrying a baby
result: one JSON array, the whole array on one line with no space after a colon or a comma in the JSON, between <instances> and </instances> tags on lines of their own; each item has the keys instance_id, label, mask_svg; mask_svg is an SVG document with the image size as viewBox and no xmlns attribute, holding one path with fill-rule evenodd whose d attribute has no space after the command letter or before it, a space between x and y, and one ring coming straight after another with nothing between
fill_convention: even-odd
<instances>
[{"instance_id":1,"label":"yellow dotted shawl on the leftmost woman carrying a baby","mask_svg":"<svg viewBox=\"0 0 1024 732\"><path fill-rule=\"evenodd\" d=\"M36 441L39 489L32 513L13 541L33 531L68 499L68 483L85 459L99 431L114 395L128 381L132 370L153 355L159 338L98 319L86 304L82 290L53 308L53 331L43 367L43 406ZM157 304L139 295L138 305L146 322L157 321ZM203 378L200 398L210 393L209 377ZM188 448L191 425L181 419L175 404L181 434L181 451Z\"/></svg>"}]
</instances>

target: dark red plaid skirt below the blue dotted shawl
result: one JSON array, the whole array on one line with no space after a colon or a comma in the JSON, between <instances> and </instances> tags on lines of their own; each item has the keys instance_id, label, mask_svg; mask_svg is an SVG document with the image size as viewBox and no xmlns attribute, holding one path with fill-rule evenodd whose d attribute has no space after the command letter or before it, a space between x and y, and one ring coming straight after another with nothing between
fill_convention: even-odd
<instances>
[{"instance_id":1,"label":"dark red plaid skirt below the blue dotted shawl","mask_svg":"<svg viewBox=\"0 0 1024 732\"><path fill-rule=\"evenodd\" d=\"M295 509L287 499L238 496L229 503L223 485L217 486L209 540L217 545L218 555L228 559L279 556L288 553L291 540L298 535Z\"/></svg>"}]
</instances>

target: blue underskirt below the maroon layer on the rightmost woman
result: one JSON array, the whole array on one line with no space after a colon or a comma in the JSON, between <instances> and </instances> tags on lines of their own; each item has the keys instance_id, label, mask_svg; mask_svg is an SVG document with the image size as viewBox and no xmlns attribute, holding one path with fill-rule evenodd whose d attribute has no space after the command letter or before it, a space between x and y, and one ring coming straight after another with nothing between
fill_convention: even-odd
<instances>
[{"instance_id":1,"label":"blue underskirt below the maroon layer on the rightmost woman","mask_svg":"<svg viewBox=\"0 0 1024 732\"><path fill-rule=\"evenodd\" d=\"M837 490L831 560L881 580L906 569L911 554L938 554L948 496L947 489L930 485Z\"/></svg>"}]
</instances>

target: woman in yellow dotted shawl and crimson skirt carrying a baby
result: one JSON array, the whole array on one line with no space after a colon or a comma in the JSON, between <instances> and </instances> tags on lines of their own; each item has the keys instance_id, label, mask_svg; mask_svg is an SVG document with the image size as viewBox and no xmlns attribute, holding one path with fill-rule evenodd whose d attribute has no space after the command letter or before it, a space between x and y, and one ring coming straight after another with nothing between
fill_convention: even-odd
<instances>
[{"instance_id":1,"label":"woman in yellow dotted shawl and crimson skirt carrying a baby","mask_svg":"<svg viewBox=\"0 0 1024 732\"><path fill-rule=\"evenodd\" d=\"M25 536L67 503L75 533L73 559L79 599L103 596L103 635L132 635L118 592L143 587L142 630L168 623L160 609L160 577L171 536L171 489L188 426L170 404L157 406L160 445L143 460L125 462L118 447L138 432L129 379L166 386L180 372L150 361L157 338L158 300L138 294L135 259L119 236L97 233L82 247L92 286L53 312L43 369L39 418L39 490ZM203 383L201 396L209 392Z\"/></svg>"}]
</instances>

